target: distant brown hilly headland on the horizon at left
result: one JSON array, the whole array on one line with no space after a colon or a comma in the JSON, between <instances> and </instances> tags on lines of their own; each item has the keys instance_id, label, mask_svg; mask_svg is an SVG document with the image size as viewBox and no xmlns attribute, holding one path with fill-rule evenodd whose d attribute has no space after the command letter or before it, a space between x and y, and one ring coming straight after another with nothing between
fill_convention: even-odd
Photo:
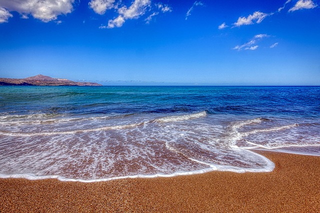
<instances>
[{"instance_id":1,"label":"distant brown hilly headland on the horizon at left","mask_svg":"<svg viewBox=\"0 0 320 213\"><path fill-rule=\"evenodd\" d=\"M76 82L68 79L51 78L45 75L35 75L28 78L0 78L0 85L21 86L102 86L98 83Z\"/></svg>"}]
</instances>

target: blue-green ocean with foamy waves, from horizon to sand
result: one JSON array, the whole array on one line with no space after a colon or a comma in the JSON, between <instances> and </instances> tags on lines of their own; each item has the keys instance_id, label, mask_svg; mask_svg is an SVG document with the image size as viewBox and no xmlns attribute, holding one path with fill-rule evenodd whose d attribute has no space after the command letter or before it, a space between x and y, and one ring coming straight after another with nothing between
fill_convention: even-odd
<instances>
[{"instance_id":1,"label":"blue-green ocean with foamy waves, from horizon to sand","mask_svg":"<svg viewBox=\"0 0 320 213\"><path fill-rule=\"evenodd\" d=\"M0 87L0 178L270 172L320 156L320 87Z\"/></svg>"}]
</instances>

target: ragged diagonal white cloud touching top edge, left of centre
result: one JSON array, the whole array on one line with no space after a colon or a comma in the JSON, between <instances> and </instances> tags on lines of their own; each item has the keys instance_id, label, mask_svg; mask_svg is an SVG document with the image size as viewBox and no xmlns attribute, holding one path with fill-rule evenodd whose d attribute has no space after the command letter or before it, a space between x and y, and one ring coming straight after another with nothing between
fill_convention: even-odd
<instances>
[{"instance_id":1,"label":"ragged diagonal white cloud touching top edge, left of centre","mask_svg":"<svg viewBox=\"0 0 320 213\"><path fill-rule=\"evenodd\" d=\"M121 27L126 19L135 19L145 13L147 7L150 6L150 0L134 0L127 8L122 6L118 8L119 15L113 20L108 21L107 28Z\"/></svg>"}]
</instances>

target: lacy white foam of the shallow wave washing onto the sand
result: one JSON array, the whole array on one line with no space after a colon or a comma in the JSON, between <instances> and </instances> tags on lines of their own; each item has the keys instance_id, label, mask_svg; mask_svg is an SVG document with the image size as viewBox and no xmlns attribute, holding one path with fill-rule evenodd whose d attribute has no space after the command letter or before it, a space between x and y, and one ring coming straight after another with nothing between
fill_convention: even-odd
<instances>
[{"instance_id":1,"label":"lacy white foam of the shallow wave washing onto the sand","mask_svg":"<svg viewBox=\"0 0 320 213\"><path fill-rule=\"evenodd\" d=\"M81 126L73 127L78 130L66 129L69 131L57 131L62 129L58 125L53 126L51 132L1 130L0 178L54 178L88 183L124 178L173 177L210 171L270 172L274 164L250 151L268 149L268 144L248 142L249 147L241 147L238 140L243 141L249 135L259 140L254 134L273 134L299 127L290 124L265 128L274 124L269 122L266 126L259 126L266 121L263 118L233 122L225 127L221 123L214 123L213 116L197 119L204 116L207 116L205 111L153 120L148 115L128 120L136 123L123 124L128 122L125 120L121 123L123 125L112 125L118 122L114 119L113 123L108 123L110 126L97 128L87 128L84 122L80 123ZM141 120L143 122L138 122ZM247 125L251 126L244 128ZM241 128L251 131L241 132ZM121 131L108 131L118 129ZM72 135L74 133L81 134ZM269 149L276 148L281 147ZM123 166L121 169L117 168L119 164ZM102 172L97 168L102 168Z\"/></svg>"}]
</instances>

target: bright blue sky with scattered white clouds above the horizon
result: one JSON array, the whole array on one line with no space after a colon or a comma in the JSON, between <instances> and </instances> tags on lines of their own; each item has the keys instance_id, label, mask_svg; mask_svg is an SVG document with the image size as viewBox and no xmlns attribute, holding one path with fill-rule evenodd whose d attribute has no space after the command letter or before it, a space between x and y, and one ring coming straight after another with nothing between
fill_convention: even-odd
<instances>
[{"instance_id":1,"label":"bright blue sky with scattered white clouds above the horizon","mask_svg":"<svg viewBox=\"0 0 320 213\"><path fill-rule=\"evenodd\" d=\"M320 85L320 0L0 0L0 77Z\"/></svg>"}]
</instances>

